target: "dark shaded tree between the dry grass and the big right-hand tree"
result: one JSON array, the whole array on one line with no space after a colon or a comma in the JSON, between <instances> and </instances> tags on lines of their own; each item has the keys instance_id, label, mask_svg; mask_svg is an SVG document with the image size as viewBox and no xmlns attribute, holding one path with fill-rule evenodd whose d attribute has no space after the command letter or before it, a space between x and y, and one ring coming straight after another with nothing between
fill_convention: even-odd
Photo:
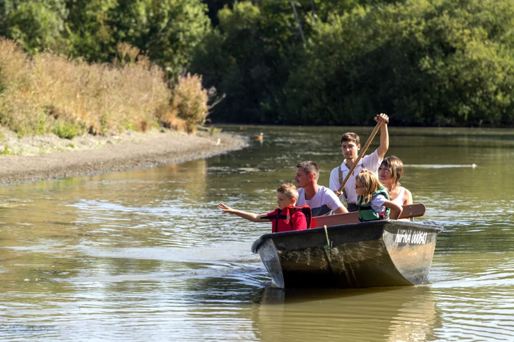
<instances>
[{"instance_id":1,"label":"dark shaded tree between the dry grass and the big right-hand tree","mask_svg":"<svg viewBox=\"0 0 514 342\"><path fill-rule=\"evenodd\" d=\"M280 122L274 104L303 49L289 3L235 2L218 19L191 65L206 85L227 94L215 107L218 119Z\"/></svg>"}]
</instances>

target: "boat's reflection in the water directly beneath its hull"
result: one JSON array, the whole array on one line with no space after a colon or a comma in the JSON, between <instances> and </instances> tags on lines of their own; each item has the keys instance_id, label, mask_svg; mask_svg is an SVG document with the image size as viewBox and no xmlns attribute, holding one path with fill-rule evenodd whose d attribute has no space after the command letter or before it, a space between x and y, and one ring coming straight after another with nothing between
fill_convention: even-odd
<instances>
[{"instance_id":1,"label":"boat's reflection in the water directly beneath its hull","mask_svg":"<svg viewBox=\"0 0 514 342\"><path fill-rule=\"evenodd\" d=\"M436 307L428 286L373 289L266 288L252 310L262 341L427 341Z\"/></svg>"}]
</instances>

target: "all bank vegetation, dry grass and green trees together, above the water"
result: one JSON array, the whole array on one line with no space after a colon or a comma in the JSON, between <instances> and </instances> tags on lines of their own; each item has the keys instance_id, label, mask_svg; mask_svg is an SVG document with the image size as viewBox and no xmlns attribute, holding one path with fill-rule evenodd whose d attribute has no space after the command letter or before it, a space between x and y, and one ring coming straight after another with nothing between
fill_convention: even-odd
<instances>
[{"instance_id":1,"label":"all bank vegetation, dry grass and green trees together, above the water","mask_svg":"<svg viewBox=\"0 0 514 342\"><path fill-rule=\"evenodd\" d=\"M513 32L507 0L5 0L0 124L509 127Z\"/></svg>"}]
</instances>

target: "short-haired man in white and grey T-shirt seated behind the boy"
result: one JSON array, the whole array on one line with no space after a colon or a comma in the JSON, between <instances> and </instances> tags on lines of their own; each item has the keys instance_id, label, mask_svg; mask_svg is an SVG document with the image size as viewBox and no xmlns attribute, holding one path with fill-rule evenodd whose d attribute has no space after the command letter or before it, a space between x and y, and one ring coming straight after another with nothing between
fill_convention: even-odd
<instances>
[{"instance_id":1,"label":"short-haired man in white and grey T-shirt seated behind the boy","mask_svg":"<svg viewBox=\"0 0 514 342\"><path fill-rule=\"evenodd\" d=\"M318 185L320 171L314 162L302 162L296 166L296 183L298 186L297 205L306 204L314 216L344 214L348 211L336 196L334 191Z\"/></svg>"}]
</instances>

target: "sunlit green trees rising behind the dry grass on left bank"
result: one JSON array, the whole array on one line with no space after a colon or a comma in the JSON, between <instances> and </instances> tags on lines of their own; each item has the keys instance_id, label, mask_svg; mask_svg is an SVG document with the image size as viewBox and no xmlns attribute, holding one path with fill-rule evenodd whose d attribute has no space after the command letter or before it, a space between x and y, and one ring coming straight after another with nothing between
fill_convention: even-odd
<instances>
[{"instance_id":1,"label":"sunlit green trees rising behind the dry grass on left bank","mask_svg":"<svg viewBox=\"0 0 514 342\"><path fill-rule=\"evenodd\" d=\"M200 0L0 0L0 35L27 51L50 49L89 62L111 62L129 43L174 74L210 32Z\"/></svg>"}]
</instances>

